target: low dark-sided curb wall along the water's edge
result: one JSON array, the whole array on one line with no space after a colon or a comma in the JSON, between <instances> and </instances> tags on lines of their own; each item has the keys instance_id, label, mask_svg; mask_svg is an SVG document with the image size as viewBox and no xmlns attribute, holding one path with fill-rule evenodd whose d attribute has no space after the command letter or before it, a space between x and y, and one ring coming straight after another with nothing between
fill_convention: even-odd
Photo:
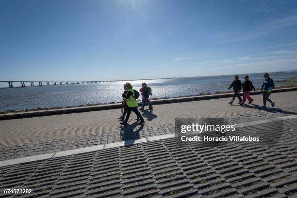
<instances>
[{"instance_id":1,"label":"low dark-sided curb wall along the water's edge","mask_svg":"<svg viewBox=\"0 0 297 198\"><path fill-rule=\"evenodd\" d=\"M273 90L274 93L284 92L284 91L297 91L297 87ZM256 94L260 94L260 91L256 91L255 93L254 92L250 93L250 95L256 95ZM161 105L161 104L169 104L169 103L181 103L181 102L190 102L190 101L198 101L198 100L226 98L231 96L232 96L232 93L221 93L221 94L214 94L214 95L199 95L199 96L180 97L180 98L158 99L158 100L152 100L151 103L153 105ZM141 102L138 102L138 103L140 104ZM89 107L73 107L73 108L61 108L61 109L0 114L0 120L49 116L49 115L66 114L66 113L80 113L80 112L107 110L107 109L115 109L115 108L121 108L121 104L115 103L115 104L109 104L109 105L97 105L97 106L89 106Z\"/></svg>"}]
</instances>

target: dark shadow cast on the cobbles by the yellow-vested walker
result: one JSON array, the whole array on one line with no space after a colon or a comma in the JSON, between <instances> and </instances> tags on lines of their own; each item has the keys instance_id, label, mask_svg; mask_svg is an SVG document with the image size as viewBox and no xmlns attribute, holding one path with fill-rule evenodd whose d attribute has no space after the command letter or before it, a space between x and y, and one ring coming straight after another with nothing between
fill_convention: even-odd
<instances>
[{"instance_id":1,"label":"dark shadow cast on the cobbles by the yellow-vested walker","mask_svg":"<svg viewBox=\"0 0 297 198\"><path fill-rule=\"evenodd\" d=\"M137 126L139 126L139 128L134 131ZM125 145L132 144L136 139L140 138L139 133L142 131L143 127L144 124L138 125L138 122L120 127L120 140L125 141Z\"/></svg>"}]
</instances>

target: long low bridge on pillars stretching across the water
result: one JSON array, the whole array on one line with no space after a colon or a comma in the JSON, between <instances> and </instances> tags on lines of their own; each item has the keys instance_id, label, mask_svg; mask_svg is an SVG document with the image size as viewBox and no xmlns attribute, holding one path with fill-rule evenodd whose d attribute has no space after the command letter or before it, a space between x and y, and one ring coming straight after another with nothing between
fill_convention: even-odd
<instances>
[{"instance_id":1,"label":"long low bridge on pillars stretching across the water","mask_svg":"<svg viewBox=\"0 0 297 198\"><path fill-rule=\"evenodd\" d=\"M139 79L141 80L141 79ZM63 85L63 84L83 84L83 83L101 83L101 82L120 82L120 81L133 81L133 80L109 80L109 81L0 81L3 83L8 83L9 88L13 88L13 83L21 83L21 87L26 87L25 83L30 83L33 87L35 85L42 86L42 85ZM34 84L35 83L35 84Z\"/></svg>"}]
</instances>

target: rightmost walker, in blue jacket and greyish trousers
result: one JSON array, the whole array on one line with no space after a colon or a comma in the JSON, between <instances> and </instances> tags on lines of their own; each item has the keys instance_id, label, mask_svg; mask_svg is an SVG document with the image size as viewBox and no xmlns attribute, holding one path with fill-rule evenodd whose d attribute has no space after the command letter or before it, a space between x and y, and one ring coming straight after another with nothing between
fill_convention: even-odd
<instances>
[{"instance_id":1,"label":"rightmost walker, in blue jacket and greyish trousers","mask_svg":"<svg viewBox=\"0 0 297 198\"><path fill-rule=\"evenodd\" d=\"M261 93L263 95L263 108L266 108L266 102L268 101L269 103L271 103L271 107L274 107L275 106L275 103L272 102L270 99L269 99L269 96L272 92L272 90L275 88L274 86L274 82L273 80L270 78L269 74L268 73L265 73L264 74L264 81L263 81L263 85L261 87Z\"/></svg>"}]
</instances>

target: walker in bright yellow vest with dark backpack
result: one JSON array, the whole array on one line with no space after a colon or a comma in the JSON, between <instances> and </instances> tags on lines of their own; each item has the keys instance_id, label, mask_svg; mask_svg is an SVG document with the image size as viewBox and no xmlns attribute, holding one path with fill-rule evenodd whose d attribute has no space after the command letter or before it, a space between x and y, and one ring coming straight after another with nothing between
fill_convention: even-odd
<instances>
[{"instance_id":1,"label":"walker in bright yellow vest with dark backpack","mask_svg":"<svg viewBox=\"0 0 297 198\"><path fill-rule=\"evenodd\" d=\"M139 98L139 92L136 90L133 90L133 86L131 85L131 83L127 82L125 84L125 87L127 89L126 94L123 93L123 98L124 100L126 100L126 104L128 105L128 110L127 110L127 115L125 118L124 122L120 122L121 125L127 125L128 121L129 121L129 117L131 115L131 111L133 111L136 115L137 118L140 119L140 122L138 124L144 124L145 121L142 117L142 115L139 113L137 107L137 98Z\"/></svg>"}]
</instances>

